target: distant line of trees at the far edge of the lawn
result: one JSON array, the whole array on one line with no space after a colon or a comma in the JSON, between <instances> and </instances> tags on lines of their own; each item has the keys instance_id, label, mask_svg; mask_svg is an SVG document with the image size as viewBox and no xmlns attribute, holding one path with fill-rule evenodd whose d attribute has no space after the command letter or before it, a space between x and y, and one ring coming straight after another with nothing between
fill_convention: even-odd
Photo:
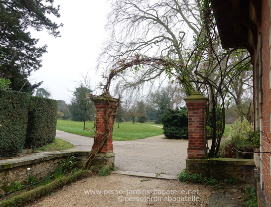
<instances>
[{"instance_id":1,"label":"distant line of trees at the far edge of the lawn","mask_svg":"<svg viewBox=\"0 0 271 207\"><path fill-rule=\"evenodd\" d=\"M47 95L46 91L41 90ZM58 119L73 120L73 121L93 121L96 115L94 103L87 97L87 94L92 93L90 87L85 87L84 84L75 88L71 103L65 103L63 100L58 100ZM39 93L36 94L36 96ZM121 100L121 105L116 112L116 122L118 127L124 121L133 123L139 122L155 122L162 123L163 114L168 112L168 109L178 110L185 105L183 95L179 88L169 84L165 87L151 92L146 99L126 98L118 95ZM252 119L252 100L246 99L244 103L244 117L248 120ZM236 104L233 102L226 110L227 123L232 124L239 117L239 111ZM84 127L85 128L85 127Z\"/></svg>"}]
</instances>

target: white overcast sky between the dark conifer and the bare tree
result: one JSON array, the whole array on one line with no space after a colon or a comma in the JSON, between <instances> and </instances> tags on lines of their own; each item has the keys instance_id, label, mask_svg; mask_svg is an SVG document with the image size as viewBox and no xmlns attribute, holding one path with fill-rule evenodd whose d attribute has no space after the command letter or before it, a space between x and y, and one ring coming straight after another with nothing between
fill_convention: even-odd
<instances>
[{"instance_id":1,"label":"white overcast sky between the dark conifer and the bare tree","mask_svg":"<svg viewBox=\"0 0 271 207\"><path fill-rule=\"evenodd\" d=\"M47 44L47 53L42 57L42 68L33 72L31 83L43 81L40 88L49 89L51 98L69 102L73 91L81 80L81 75L89 71L95 87L101 80L94 68L101 52L101 44L106 38L104 26L109 8L107 0L55 0L60 5L61 17L56 22L63 23L61 37L54 38L46 33L32 32L39 38L39 44Z\"/></svg>"}]
</instances>

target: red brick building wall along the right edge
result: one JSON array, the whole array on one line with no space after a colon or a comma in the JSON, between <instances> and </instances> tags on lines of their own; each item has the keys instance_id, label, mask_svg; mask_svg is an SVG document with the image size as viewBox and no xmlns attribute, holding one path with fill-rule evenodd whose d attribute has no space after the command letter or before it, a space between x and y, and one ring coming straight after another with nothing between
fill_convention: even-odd
<instances>
[{"instance_id":1,"label":"red brick building wall along the right edge","mask_svg":"<svg viewBox=\"0 0 271 207\"><path fill-rule=\"evenodd\" d=\"M263 49L262 49L262 60L263 60L263 151L271 152L271 91L270 91L270 80L269 74L271 70L270 64L270 48L269 48L269 29L270 29L270 7L269 0L262 0L262 32L263 32ZM271 205L271 174L270 174L270 156L271 154L263 153L263 174L264 174L264 190L266 193L266 199Z\"/></svg>"}]
</instances>

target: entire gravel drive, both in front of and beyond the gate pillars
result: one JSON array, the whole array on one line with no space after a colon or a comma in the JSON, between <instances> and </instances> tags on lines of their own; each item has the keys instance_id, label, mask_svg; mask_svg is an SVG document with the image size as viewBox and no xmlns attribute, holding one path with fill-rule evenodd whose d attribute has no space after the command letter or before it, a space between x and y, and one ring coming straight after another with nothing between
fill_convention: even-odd
<instances>
[{"instance_id":1,"label":"entire gravel drive, both in front of and beyond the gate pillars","mask_svg":"<svg viewBox=\"0 0 271 207\"><path fill-rule=\"evenodd\" d=\"M57 130L56 137L75 145L67 151L90 150L93 138ZM119 170L177 175L185 168L188 140L164 139L163 135L132 141L113 141ZM93 191L100 193L91 194ZM88 191L88 193L87 193ZM206 207L209 187L178 180L121 174L93 176L63 187L29 207Z\"/></svg>"}]
</instances>

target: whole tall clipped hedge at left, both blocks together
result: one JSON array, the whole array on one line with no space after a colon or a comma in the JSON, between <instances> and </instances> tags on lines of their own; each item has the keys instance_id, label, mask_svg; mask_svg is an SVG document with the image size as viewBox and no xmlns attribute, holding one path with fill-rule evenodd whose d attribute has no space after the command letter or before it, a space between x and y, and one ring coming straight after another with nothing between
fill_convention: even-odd
<instances>
[{"instance_id":1,"label":"whole tall clipped hedge at left, both blocks together","mask_svg":"<svg viewBox=\"0 0 271 207\"><path fill-rule=\"evenodd\" d=\"M41 147L55 139L57 101L0 90L0 157L23 147Z\"/></svg>"}]
</instances>

